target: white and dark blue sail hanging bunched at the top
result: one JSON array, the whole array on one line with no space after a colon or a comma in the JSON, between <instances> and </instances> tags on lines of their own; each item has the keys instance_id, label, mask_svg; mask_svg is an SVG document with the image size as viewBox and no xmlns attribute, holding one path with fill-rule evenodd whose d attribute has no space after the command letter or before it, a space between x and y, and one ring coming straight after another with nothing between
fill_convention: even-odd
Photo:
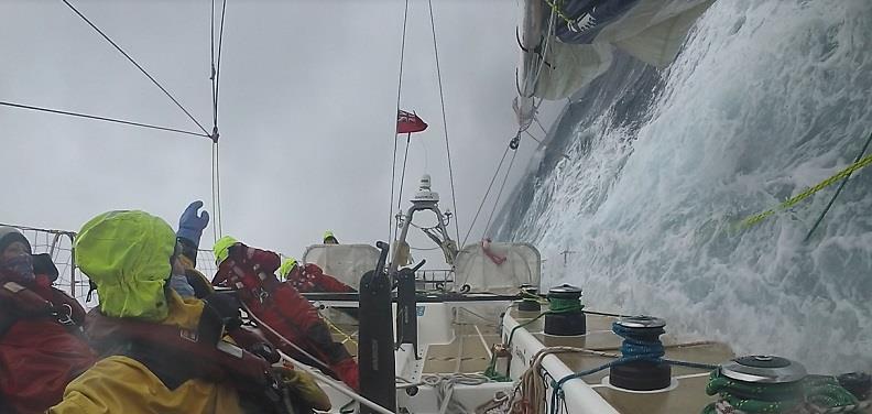
<instances>
[{"instance_id":1,"label":"white and dark blue sail hanging bunched at the top","mask_svg":"<svg viewBox=\"0 0 872 414\"><path fill-rule=\"evenodd\" d=\"M519 124L530 124L534 98L569 97L602 75L614 50L664 67L715 0L526 0L522 9Z\"/></svg>"}]
</instances>

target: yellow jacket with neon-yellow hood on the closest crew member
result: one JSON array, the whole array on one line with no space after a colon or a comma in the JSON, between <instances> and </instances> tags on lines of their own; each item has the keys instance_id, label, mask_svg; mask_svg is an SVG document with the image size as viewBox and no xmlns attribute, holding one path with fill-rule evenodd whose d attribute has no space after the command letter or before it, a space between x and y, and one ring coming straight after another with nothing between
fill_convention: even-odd
<instances>
[{"instance_id":1,"label":"yellow jacket with neon-yellow hood on the closest crew member","mask_svg":"<svg viewBox=\"0 0 872 414\"><path fill-rule=\"evenodd\" d=\"M76 261L97 284L101 312L196 329L199 299L163 288L171 273L175 233L143 211L110 211L88 221L76 240ZM190 379L170 390L144 364L110 356L67 385L53 414L243 413L229 384Z\"/></svg>"}]
</instances>

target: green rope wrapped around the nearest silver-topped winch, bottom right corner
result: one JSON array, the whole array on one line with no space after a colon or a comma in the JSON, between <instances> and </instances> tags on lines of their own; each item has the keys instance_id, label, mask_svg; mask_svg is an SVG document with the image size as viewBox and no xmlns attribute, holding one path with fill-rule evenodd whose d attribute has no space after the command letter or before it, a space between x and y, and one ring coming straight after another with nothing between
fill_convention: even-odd
<instances>
[{"instance_id":1,"label":"green rope wrapped around the nearest silver-topped winch, bottom right corner","mask_svg":"<svg viewBox=\"0 0 872 414\"><path fill-rule=\"evenodd\" d=\"M857 399L831 377L808 377L797 382L765 384L735 381L723 377L720 370L715 370L709 377L706 393L718 394L734 408L749 414L787 413L806 402L821 408L857 404ZM715 403L702 410L702 414L716 413Z\"/></svg>"}]
</instances>

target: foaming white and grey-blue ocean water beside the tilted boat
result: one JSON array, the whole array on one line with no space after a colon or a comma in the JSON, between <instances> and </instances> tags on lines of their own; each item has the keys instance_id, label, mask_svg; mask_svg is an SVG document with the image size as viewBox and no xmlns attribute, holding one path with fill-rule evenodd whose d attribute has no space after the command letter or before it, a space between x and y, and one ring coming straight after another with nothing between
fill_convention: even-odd
<instances>
[{"instance_id":1,"label":"foaming white and grey-blue ocean water beside the tilted boat","mask_svg":"<svg viewBox=\"0 0 872 414\"><path fill-rule=\"evenodd\" d=\"M872 133L872 2L718 1L665 69L619 57L577 94L500 215L543 284L667 330L872 370L872 168L804 241ZM566 154L566 156L564 156Z\"/></svg>"}]
</instances>

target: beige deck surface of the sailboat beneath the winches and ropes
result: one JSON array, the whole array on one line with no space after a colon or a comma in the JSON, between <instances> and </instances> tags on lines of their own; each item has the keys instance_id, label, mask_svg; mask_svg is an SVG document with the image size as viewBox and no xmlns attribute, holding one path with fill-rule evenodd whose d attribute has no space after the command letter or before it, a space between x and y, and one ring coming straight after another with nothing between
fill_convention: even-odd
<instances>
[{"instance_id":1,"label":"beige deck surface of the sailboat beneath the winches and ropes","mask_svg":"<svg viewBox=\"0 0 872 414\"><path fill-rule=\"evenodd\" d=\"M509 313L510 318L506 318L509 322L506 327L501 330L499 324L489 322L492 313L488 313L486 318L457 318L458 315L462 315L462 313L457 314L450 323L453 330L450 340L445 344L421 345L419 355L423 356L423 364L417 368L419 374L483 372L491 360L492 345L505 339L508 331L511 330L511 320L514 319L523 324L531 317L530 314L522 315L513 309ZM537 314L532 316L535 315ZM336 328L334 331L336 340L344 341L349 352L356 355L357 326L353 319L336 314L330 318ZM534 345L532 347L528 344L522 346L519 340L513 340L515 342L513 347L523 348L515 348L512 351L513 377L523 372L527 368L531 357L543 347L565 346L620 353L622 338L611 331L611 325L615 320L617 317L612 316L588 314L587 334L575 337L545 335L543 333L544 318L530 323L522 330L528 333L530 337L534 339L531 344ZM425 334L419 333L419 335ZM665 358L671 360L718 364L734 357L732 350L720 342L688 341L668 333L661 339L666 349ZM571 372L597 368L613 360L607 356L578 352L556 353L555 357L559 358L559 361ZM705 392L709 375L709 371L706 369L673 366L673 384L667 390L655 392L635 392L614 388L608 382L608 374L609 370L607 369L585 377L584 381L622 414L698 413L713 401ZM573 405L570 404L570 406ZM570 410L570 412L575 411Z\"/></svg>"}]
</instances>

